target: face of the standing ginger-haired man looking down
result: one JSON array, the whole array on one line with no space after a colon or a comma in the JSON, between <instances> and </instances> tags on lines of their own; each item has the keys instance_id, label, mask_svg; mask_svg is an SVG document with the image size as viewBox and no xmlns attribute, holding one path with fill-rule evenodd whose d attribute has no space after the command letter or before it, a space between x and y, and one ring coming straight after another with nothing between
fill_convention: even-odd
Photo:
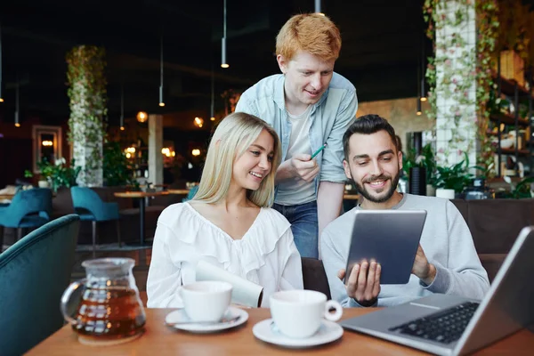
<instances>
[{"instance_id":1,"label":"face of the standing ginger-haired man looking down","mask_svg":"<svg viewBox=\"0 0 534 356\"><path fill-rule=\"evenodd\" d=\"M282 73L286 75L284 93L286 109L300 114L308 105L315 104L328 89L334 73L335 60L322 61L311 53L299 51L287 59L278 55L277 61Z\"/></svg>"}]
</instances>

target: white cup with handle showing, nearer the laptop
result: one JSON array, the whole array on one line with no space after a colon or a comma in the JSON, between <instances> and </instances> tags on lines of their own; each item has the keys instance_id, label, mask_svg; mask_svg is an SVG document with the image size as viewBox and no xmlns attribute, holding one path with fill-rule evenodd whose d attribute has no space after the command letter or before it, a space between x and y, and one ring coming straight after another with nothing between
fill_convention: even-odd
<instances>
[{"instance_id":1,"label":"white cup with handle showing, nearer the laptop","mask_svg":"<svg viewBox=\"0 0 534 356\"><path fill-rule=\"evenodd\" d=\"M271 316L285 336L305 338L314 335L324 319L337 321L343 308L327 295L313 290L287 290L271 295ZM329 312L330 308L336 312Z\"/></svg>"}]
</instances>

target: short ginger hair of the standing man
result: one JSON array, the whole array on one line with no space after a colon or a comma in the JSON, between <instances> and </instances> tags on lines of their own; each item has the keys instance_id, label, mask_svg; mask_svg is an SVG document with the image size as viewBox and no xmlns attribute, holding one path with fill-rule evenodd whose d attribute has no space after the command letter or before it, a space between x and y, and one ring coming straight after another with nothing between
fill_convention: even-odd
<instances>
[{"instance_id":1,"label":"short ginger hair of the standing man","mask_svg":"<svg viewBox=\"0 0 534 356\"><path fill-rule=\"evenodd\" d=\"M276 54L291 61L298 51L312 53L322 61L336 61L341 51L339 28L318 13L293 16L276 36Z\"/></svg>"}]
</instances>

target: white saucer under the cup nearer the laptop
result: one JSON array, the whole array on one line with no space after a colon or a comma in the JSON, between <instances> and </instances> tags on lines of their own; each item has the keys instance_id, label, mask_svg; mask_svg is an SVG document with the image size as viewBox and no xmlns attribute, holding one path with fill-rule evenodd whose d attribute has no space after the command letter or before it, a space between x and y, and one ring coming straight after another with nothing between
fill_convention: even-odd
<instances>
[{"instance_id":1,"label":"white saucer under the cup nearer the laptop","mask_svg":"<svg viewBox=\"0 0 534 356\"><path fill-rule=\"evenodd\" d=\"M284 336L271 327L272 319L263 320L252 328L252 333L258 339L279 346L303 348L320 344L328 344L343 336L343 328L333 321L323 320L320 329L315 335L303 339Z\"/></svg>"}]
</instances>

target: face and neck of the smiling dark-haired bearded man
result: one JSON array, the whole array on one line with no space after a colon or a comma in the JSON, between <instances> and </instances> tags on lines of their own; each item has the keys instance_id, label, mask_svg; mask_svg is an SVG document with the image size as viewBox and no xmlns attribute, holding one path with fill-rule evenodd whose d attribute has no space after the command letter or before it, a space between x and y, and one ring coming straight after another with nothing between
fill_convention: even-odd
<instances>
[{"instance_id":1,"label":"face and neck of the smiling dark-haired bearded man","mask_svg":"<svg viewBox=\"0 0 534 356\"><path fill-rule=\"evenodd\" d=\"M363 197L363 207L389 208L401 201L397 184L402 170L402 153L390 135L352 134L349 140L348 162L344 171Z\"/></svg>"}]
</instances>

